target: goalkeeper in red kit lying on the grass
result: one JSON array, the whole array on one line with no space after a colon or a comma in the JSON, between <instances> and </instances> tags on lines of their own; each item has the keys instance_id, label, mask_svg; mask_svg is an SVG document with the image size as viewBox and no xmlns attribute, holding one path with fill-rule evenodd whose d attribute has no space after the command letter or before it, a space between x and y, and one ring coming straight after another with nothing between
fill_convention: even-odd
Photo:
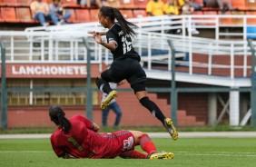
<instances>
[{"instance_id":1,"label":"goalkeeper in red kit lying on the grass","mask_svg":"<svg viewBox=\"0 0 256 167\"><path fill-rule=\"evenodd\" d=\"M139 131L118 131L115 133L97 133L96 123L74 115L65 118L64 110L57 105L51 106L49 116L57 126L51 135L51 143L58 157L68 158L122 158L134 159L172 159L172 152L157 152L148 134ZM143 152L134 150L141 145Z\"/></svg>"}]
</instances>

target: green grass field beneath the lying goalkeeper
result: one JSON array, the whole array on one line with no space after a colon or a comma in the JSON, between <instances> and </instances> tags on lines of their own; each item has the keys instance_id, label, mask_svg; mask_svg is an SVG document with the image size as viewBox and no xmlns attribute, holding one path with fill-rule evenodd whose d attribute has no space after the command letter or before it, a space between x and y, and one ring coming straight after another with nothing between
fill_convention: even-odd
<instances>
[{"instance_id":1,"label":"green grass field beneath the lying goalkeeper","mask_svg":"<svg viewBox=\"0 0 256 167\"><path fill-rule=\"evenodd\" d=\"M175 154L172 160L64 160L55 156L49 139L1 139L0 166L231 166L254 167L256 141L254 138L180 138L153 139L158 151ZM138 147L137 150L140 147Z\"/></svg>"}]
</instances>

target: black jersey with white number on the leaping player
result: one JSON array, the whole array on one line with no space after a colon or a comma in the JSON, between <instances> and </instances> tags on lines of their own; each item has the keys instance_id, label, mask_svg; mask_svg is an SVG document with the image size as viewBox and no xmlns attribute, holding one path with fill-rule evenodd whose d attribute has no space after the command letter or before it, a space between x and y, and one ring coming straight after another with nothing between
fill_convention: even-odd
<instances>
[{"instance_id":1,"label":"black jersey with white number on the leaping player","mask_svg":"<svg viewBox=\"0 0 256 167\"><path fill-rule=\"evenodd\" d=\"M118 23L114 23L113 26L106 33L107 42L114 42L117 47L113 54L113 60L123 58L135 58L138 61L141 60L140 55L134 50L132 44L132 38L129 34L123 35L121 26Z\"/></svg>"}]
</instances>

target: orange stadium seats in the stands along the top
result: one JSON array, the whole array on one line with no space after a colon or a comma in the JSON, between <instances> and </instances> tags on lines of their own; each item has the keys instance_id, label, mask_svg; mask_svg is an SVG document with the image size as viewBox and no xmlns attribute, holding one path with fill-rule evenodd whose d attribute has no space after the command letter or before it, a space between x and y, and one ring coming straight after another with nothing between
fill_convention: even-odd
<instances>
[{"instance_id":1,"label":"orange stadium seats in the stands along the top","mask_svg":"<svg viewBox=\"0 0 256 167\"><path fill-rule=\"evenodd\" d=\"M2 12L2 16L0 19L0 22L3 23L16 23L16 24L26 24L23 26L30 26L30 24L35 24L33 19L29 18L30 10L29 5L32 0L0 0L0 8L3 7L11 7L13 9L3 9L5 12ZM47 2L48 4L52 2L52 0L43 0L44 2ZM116 7L120 9L123 13L123 15L126 16L126 18L137 18L137 17L144 17L146 16L145 8L149 0L106 0L107 3L113 7ZM256 11L256 2L250 1L250 0L223 0L224 2L231 3L233 8L238 8L238 11L232 11L226 12L225 15L254 15ZM203 0L195 0L195 3L203 4ZM75 23L87 23L87 22L97 22L97 12L98 9L95 8L95 6L92 6L90 9L86 7L82 7L81 5L76 4L76 0L63 0L63 6L65 10L68 10L71 12L72 16L69 19L69 23L75 24ZM21 8L19 7L27 7L29 9ZM12 10L16 12L13 14L10 14L8 11ZM21 11L20 11L21 10ZM2 9L1 9L2 11ZM25 13L27 15L20 15L18 13ZM77 15L78 13L82 12L80 15ZM5 13L8 13L9 16L3 16ZM193 15L222 15L219 8L210 8L210 7L202 7L202 11L195 11ZM16 18L15 18L16 17ZM194 18L197 19L197 18ZM214 19L214 18L212 18ZM231 25L231 22L235 25L241 24L241 18L230 18L222 17L220 20L221 25ZM253 18L249 18L250 24L252 24Z\"/></svg>"}]
</instances>

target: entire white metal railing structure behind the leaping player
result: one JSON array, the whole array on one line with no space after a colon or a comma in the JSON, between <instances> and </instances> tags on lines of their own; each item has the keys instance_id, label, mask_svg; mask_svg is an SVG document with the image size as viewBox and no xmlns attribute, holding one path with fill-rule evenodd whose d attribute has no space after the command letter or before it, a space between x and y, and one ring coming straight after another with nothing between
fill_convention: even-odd
<instances>
[{"instance_id":1,"label":"entire white metal railing structure behind the leaping player","mask_svg":"<svg viewBox=\"0 0 256 167\"><path fill-rule=\"evenodd\" d=\"M251 15L177 15L158 16L130 19L139 25L140 29L133 45L139 54L142 55L142 62L147 70L153 70L153 64L167 64L167 70L171 71L171 49L167 43L168 39L173 41L176 48L177 58L187 58L186 61L176 61L177 64L189 68L189 74L194 74L193 67L207 68L207 74L212 75L214 68L230 70L228 77L236 76L236 69L242 70L242 77L248 77L248 56L251 55L247 41L249 35L246 30L246 23ZM172 21L172 20L175 21ZM238 19L240 24L224 25L223 19ZM194 37L191 33L186 35L187 22L195 23L197 28L215 29L215 38L206 39ZM231 22L232 23L232 22ZM241 24L242 23L242 24ZM175 25L175 26L174 26ZM243 33L237 40L220 39L220 27L234 26L241 27ZM182 28L182 35L166 34L167 30ZM64 26L31 27L25 32L0 31L0 37L6 44L6 63L86 63L86 49L84 49L83 38L86 37L91 48L94 48L91 55L92 64L110 64L112 55L100 44L87 34L88 31L103 31L98 23L74 24ZM159 33L160 32L160 33ZM230 36L233 33L223 35ZM237 33L240 34L240 33ZM250 34L251 35L251 34ZM193 60L194 54L207 56L208 63L199 63ZM230 64L216 64L212 62L214 55L228 55ZM235 56L243 56L243 63L236 65ZM101 69L100 69L101 71Z\"/></svg>"}]
</instances>

